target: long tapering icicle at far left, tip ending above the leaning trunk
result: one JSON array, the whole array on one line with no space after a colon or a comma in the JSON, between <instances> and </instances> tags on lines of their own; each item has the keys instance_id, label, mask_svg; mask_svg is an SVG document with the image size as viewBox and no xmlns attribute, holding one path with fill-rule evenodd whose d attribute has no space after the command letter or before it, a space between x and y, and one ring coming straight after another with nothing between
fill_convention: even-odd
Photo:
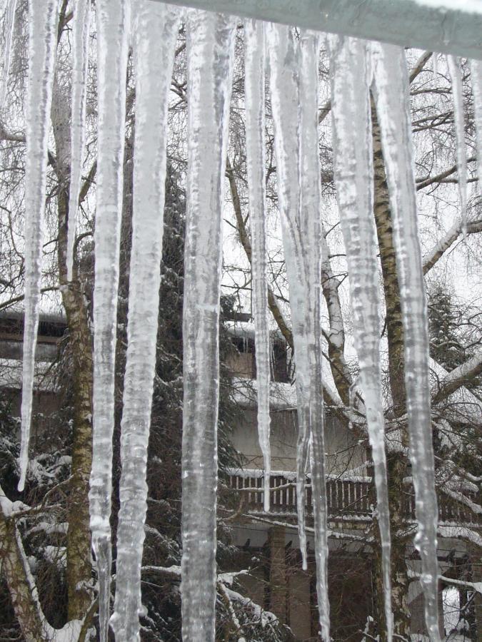
<instances>
[{"instance_id":1,"label":"long tapering icicle at far left, tip ending above the leaning trunk","mask_svg":"<svg viewBox=\"0 0 482 642\"><path fill-rule=\"evenodd\" d=\"M29 2L29 88L25 153L25 317L19 491L29 463L35 348L39 327L47 143L56 51L57 2Z\"/></svg>"}]
</instances>

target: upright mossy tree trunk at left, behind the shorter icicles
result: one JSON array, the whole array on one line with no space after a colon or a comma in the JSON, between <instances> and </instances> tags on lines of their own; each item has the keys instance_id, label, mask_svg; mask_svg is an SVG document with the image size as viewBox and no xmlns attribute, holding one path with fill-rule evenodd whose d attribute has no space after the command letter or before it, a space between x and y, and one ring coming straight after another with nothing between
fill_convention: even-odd
<instances>
[{"instance_id":1,"label":"upright mossy tree trunk at left, behind the shorter icicles","mask_svg":"<svg viewBox=\"0 0 482 642\"><path fill-rule=\"evenodd\" d=\"M69 211L71 114L69 101L58 79L54 83L52 125L56 143L55 170L59 180L59 283L66 312L73 361L71 368L74 396L72 425L72 473L67 521L68 616L84 618L91 604L92 566L89 520L89 477L92 464L92 336L89 325L89 297L74 261L73 278L67 281L66 248Z\"/></svg>"}]
</instances>

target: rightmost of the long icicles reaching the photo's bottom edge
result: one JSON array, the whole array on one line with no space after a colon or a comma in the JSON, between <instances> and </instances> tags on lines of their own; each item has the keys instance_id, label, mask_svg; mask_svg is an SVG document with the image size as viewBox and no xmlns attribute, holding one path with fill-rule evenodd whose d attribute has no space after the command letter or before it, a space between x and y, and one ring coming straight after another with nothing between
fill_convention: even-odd
<instances>
[{"instance_id":1,"label":"rightmost of the long icicles reaching the photo's bottom edge","mask_svg":"<svg viewBox=\"0 0 482 642\"><path fill-rule=\"evenodd\" d=\"M428 378L428 322L417 229L408 71L401 47L373 44L372 53L376 108L401 288L410 457L418 521L415 545L422 561L426 627L431 641L438 642L438 509Z\"/></svg>"}]
</instances>

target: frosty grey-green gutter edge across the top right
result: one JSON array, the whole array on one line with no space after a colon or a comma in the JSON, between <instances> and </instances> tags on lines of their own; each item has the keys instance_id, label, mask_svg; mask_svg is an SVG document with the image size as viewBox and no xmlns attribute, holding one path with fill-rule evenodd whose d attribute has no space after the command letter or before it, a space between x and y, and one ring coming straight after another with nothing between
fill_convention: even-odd
<instances>
[{"instance_id":1,"label":"frosty grey-green gutter edge across the top right","mask_svg":"<svg viewBox=\"0 0 482 642\"><path fill-rule=\"evenodd\" d=\"M171 0L171 4L482 59L480 0Z\"/></svg>"}]
</instances>

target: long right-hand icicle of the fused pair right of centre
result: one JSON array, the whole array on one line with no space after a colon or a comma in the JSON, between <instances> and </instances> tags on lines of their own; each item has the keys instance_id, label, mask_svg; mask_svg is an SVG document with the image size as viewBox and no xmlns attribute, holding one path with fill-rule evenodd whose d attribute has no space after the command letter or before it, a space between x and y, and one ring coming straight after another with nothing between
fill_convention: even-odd
<instances>
[{"instance_id":1,"label":"long right-hand icicle of the fused pair right of centre","mask_svg":"<svg viewBox=\"0 0 482 642\"><path fill-rule=\"evenodd\" d=\"M299 171L300 205L298 225L305 250L306 338L309 377L308 420L311 436L311 486L315 526L316 594L321 638L330 640L328 601L328 506L326 499L325 434L321 348L321 184L318 149L318 36L300 32L299 64ZM296 354L295 354L296 358ZM298 368L298 362L296 362Z\"/></svg>"}]
</instances>

